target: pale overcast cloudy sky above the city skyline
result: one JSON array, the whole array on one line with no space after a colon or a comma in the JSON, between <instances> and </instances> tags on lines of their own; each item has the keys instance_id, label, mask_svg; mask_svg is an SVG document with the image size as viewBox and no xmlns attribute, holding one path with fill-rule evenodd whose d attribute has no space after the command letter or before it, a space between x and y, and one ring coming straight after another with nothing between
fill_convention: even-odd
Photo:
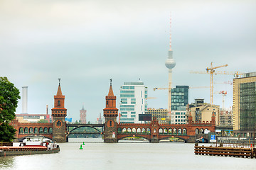
<instances>
[{"instance_id":1,"label":"pale overcast cloudy sky above the city skyline","mask_svg":"<svg viewBox=\"0 0 256 170\"><path fill-rule=\"evenodd\" d=\"M124 81L141 79L155 97L149 107L167 108L168 92L153 88L168 85L170 12L173 86L210 86L210 74L190 73L204 72L210 62L228 64L216 71L256 71L256 1L0 0L0 76L20 91L28 86L28 113L53 107L58 78L73 120L84 105L95 122L111 78L118 99ZM213 91L228 91L225 106L232 106L232 85L214 84ZM210 103L210 88L189 93L190 103ZM215 94L213 103L221 106L222 96ZM21 108L19 101L16 113Z\"/></svg>"}]
</instances>

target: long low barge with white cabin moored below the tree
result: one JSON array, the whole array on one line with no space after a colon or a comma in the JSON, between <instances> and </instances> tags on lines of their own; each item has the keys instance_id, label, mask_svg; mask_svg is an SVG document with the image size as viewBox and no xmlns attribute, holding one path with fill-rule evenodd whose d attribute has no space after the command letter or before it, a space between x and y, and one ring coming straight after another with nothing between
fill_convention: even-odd
<instances>
[{"instance_id":1,"label":"long low barge with white cabin moored below the tree","mask_svg":"<svg viewBox=\"0 0 256 170\"><path fill-rule=\"evenodd\" d=\"M25 154L53 154L60 152L60 147L42 136L26 137L23 142L14 143L13 146L0 147L0 157Z\"/></svg>"}]
</instances>

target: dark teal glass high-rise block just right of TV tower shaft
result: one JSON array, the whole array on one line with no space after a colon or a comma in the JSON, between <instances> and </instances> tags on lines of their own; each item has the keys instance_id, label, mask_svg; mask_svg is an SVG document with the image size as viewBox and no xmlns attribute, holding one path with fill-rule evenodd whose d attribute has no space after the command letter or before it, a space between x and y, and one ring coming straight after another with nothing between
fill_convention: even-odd
<instances>
[{"instance_id":1,"label":"dark teal glass high-rise block just right of TV tower shaft","mask_svg":"<svg viewBox=\"0 0 256 170\"><path fill-rule=\"evenodd\" d=\"M171 111L186 111L189 86L176 86L171 89Z\"/></svg>"}]
</instances>

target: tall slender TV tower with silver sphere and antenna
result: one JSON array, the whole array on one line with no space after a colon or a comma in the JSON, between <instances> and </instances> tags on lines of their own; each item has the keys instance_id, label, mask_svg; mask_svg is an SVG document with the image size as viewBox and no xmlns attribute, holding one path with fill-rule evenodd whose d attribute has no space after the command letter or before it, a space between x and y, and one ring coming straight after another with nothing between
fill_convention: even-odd
<instances>
[{"instance_id":1,"label":"tall slender TV tower with silver sphere and antenna","mask_svg":"<svg viewBox=\"0 0 256 170\"><path fill-rule=\"evenodd\" d=\"M175 67L176 62L174 61L173 51L171 50L171 17L170 17L170 45L168 51L168 58L165 62L165 65L169 71L169 91L168 91L168 111L171 113L171 77L172 77L172 69Z\"/></svg>"}]
</instances>

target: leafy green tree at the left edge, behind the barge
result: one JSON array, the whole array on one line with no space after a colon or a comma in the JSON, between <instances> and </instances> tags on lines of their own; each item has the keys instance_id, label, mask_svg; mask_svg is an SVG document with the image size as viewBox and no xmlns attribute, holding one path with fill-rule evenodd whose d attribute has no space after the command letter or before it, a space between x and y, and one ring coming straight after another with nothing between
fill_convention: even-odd
<instances>
[{"instance_id":1,"label":"leafy green tree at the left edge, behind the barge","mask_svg":"<svg viewBox=\"0 0 256 170\"><path fill-rule=\"evenodd\" d=\"M0 77L0 142L14 140L16 130L9 122L15 118L19 98L19 91L14 84L7 77Z\"/></svg>"}]
</instances>

